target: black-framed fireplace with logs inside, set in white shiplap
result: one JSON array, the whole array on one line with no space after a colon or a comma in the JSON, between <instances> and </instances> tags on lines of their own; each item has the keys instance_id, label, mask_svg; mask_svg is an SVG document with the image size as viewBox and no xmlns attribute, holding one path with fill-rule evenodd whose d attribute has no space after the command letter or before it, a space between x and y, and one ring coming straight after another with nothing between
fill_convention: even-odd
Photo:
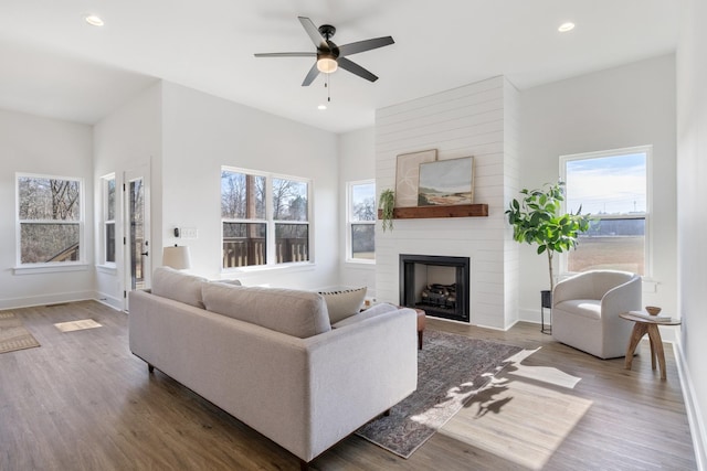
<instances>
[{"instance_id":1,"label":"black-framed fireplace with logs inside, set in white shiplap","mask_svg":"<svg viewBox=\"0 0 707 471\"><path fill-rule=\"evenodd\" d=\"M469 259L400 254L400 304L469 322Z\"/></svg>"}]
</instances>

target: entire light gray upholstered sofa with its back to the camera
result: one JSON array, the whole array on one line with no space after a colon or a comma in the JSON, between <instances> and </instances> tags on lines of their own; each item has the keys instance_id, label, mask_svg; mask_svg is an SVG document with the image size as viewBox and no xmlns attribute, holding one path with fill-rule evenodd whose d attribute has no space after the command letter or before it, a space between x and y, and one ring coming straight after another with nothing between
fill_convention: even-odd
<instances>
[{"instance_id":1,"label":"entire light gray upholstered sofa with its back to the camera","mask_svg":"<svg viewBox=\"0 0 707 471\"><path fill-rule=\"evenodd\" d=\"M310 291L158 268L129 296L130 351L302 460L416 388L416 314L379 304L330 324Z\"/></svg>"}]
</instances>

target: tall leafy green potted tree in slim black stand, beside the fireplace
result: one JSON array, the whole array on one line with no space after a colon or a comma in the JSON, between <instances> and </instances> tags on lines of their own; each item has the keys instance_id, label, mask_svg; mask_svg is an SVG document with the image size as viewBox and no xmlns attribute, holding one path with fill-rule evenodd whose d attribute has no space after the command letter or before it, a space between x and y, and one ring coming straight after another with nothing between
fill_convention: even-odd
<instances>
[{"instance_id":1,"label":"tall leafy green potted tree in slim black stand, beside the fireplace","mask_svg":"<svg viewBox=\"0 0 707 471\"><path fill-rule=\"evenodd\" d=\"M577 247L577 237L589 228L591 215L581 214L581 205L577 213L560 213L561 202L564 201L562 181L546 183L538 190L523 189L520 194L525 196L520 201L514 199L506 214L516 242L537 244L538 255L548 254L550 290L541 292L541 307L551 308L555 290L552 257L556 251L562 253Z\"/></svg>"}]
</instances>

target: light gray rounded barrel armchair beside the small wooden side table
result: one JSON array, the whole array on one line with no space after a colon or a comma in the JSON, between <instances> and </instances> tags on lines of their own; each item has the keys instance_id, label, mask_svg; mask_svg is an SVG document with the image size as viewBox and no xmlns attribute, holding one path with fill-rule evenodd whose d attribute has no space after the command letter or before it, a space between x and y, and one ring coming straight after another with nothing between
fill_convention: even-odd
<instances>
[{"instance_id":1,"label":"light gray rounded barrel armchair beside the small wooden side table","mask_svg":"<svg viewBox=\"0 0 707 471\"><path fill-rule=\"evenodd\" d=\"M642 309L641 277L587 271L558 282L552 293L552 338L600 358L625 356L633 323L619 317Z\"/></svg>"}]
</instances>

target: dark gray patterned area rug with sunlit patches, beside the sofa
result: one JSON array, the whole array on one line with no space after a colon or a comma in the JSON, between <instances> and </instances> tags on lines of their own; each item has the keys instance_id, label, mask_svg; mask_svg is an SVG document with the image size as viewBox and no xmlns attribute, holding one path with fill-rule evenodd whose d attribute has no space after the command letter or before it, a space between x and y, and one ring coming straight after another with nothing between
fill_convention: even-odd
<instances>
[{"instance_id":1,"label":"dark gray patterned area rug with sunlit patches, beside the sofa","mask_svg":"<svg viewBox=\"0 0 707 471\"><path fill-rule=\"evenodd\" d=\"M418 389L356 435L409 458L523 349L444 332L425 332Z\"/></svg>"}]
</instances>

